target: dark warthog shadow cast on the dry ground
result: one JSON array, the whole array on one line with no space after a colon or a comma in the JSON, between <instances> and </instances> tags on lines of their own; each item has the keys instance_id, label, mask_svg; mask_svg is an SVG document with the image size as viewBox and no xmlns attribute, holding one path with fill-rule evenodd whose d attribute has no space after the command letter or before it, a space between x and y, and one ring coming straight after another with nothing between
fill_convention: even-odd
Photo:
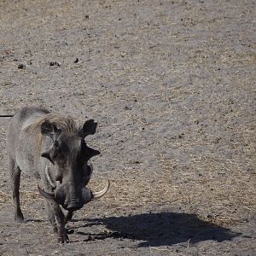
<instances>
[{"instance_id":1,"label":"dark warthog shadow cast on the dry ground","mask_svg":"<svg viewBox=\"0 0 256 256\"><path fill-rule=\"evenodd\" d=\"M190 244L206 240L225 241L241 235L241 233L234 233L224 227L202 221L195 214L188 213L143 213L127 217L94 218L82 221L87 222L84 227L102 224L108 230L113 230L113 233L105 236L98 234L100 236L95 236L96 239L113 237L142 241L138 247L171 246L188 241ZM78 233L88 235L88 233Z\"/></svg>"}]
</instances>

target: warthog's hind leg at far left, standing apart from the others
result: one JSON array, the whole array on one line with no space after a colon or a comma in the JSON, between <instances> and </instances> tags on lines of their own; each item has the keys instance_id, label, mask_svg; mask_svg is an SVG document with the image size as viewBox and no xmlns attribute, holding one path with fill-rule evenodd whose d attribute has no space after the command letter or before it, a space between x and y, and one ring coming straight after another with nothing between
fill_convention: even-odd
<instances>
[{"instance_id":1,"label":"warthog's hind leg at far left, standing apart from the others","mask_svg":"<svg viewBox=\"0 0 256 256\"><path fill-rule=\"evenodd\" d=\"M9 172L15 205L15 221L23 222L24 217L20 209L20 168L15 165L14 160L9 160Z\"/></svg>"}]
</instances>

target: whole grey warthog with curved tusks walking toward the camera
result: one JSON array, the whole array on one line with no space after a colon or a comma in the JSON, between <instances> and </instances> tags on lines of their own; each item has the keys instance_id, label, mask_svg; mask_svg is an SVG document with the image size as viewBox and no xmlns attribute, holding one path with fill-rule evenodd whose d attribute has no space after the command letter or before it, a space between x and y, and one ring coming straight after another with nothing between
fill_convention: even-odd
<instances>
[{"instance_id":1,"label":"whole grey warthog with curved tusks walking toward the camera","mask_svg":"<svg viewBox=\"0 0 256 256\"><path fill-rule=\"evenodd\" d=\"M85 203L107 193L92 192L85 186L90 181L91 157L100 154L89 148L84 137L96 132L96 123L90 119L78 128L71 117L49 113L44 108L22 108L10 119L7 132L9 172L15 205L15 220L24 220L20 209L20 172L40 178L46 199L49 222L58 234L58 240L68 241L65 224L73 211Z\"/></svg>"}]
</instances>

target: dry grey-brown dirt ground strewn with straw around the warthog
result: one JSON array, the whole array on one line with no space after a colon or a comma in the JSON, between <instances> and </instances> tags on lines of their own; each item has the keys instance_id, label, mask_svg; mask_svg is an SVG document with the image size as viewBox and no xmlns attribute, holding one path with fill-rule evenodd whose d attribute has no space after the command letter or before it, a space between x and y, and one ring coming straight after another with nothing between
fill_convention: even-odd
<instances>
[{"instance_id":1,"label":"dry grey-brown dirt ground strewn with straw around the warthog","mask_svg":"<svg viewBox=\"0 0 256 256\"><path fill-rule=\"evenodd\" d=\"M93 118L100 201L70 243L38 180L15 224L0 119L0 255L256 255L255 1L0 0L0 114Z\"/></svg>"}]
</instances>

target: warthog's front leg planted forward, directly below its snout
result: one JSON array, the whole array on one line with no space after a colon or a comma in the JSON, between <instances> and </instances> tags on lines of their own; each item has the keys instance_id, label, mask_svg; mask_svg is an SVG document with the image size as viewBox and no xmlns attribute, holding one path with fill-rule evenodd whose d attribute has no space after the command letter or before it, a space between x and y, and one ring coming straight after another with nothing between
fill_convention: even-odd
<instances>
[{"instance_id":1,"label":"warthog's front leg planted forward, directly below its snout","mask_svg":"<svg viewBox=\"0 0 256 256\"><path fill-rule=\"evenodd\" d=\"M67 230L65 229L65 216L61 211L61 207L53 201L50 201L49 205L49 211L51 211L48 213L49 221L53 225L53 230L58 234L58 241L61 243L68 242Z\"/></svg>"}]
</instances>

